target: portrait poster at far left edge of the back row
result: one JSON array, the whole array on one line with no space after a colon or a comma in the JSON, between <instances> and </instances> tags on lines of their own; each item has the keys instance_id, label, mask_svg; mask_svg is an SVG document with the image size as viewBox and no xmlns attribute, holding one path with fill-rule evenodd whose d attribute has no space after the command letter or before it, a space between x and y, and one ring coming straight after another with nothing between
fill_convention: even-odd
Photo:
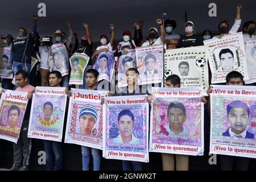
<instances>
[{"instance_id":1,"label":"portrait poster at far left edge of the back row","mask_svg":"<svg viewBox=\"0 0 256 182\"><path fill-rule=\"evenodd\" d=\"M13 78L13 69L9 68L9 58L11 55L11 48L0 47L0 77L1 78Z\"/></svg>"}]
</instances>

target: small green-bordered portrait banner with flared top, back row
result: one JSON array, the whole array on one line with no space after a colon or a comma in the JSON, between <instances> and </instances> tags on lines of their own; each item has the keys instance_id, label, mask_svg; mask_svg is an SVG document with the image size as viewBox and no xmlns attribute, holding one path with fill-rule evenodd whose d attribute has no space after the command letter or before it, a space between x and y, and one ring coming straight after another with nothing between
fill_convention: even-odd
<instances>
[{"instance_id":1,"label":"small green-bordered portrait banner with flared top, back row","mask_svg":"<svg viewBox=\"0 0 256 182\"><path fill-rule=\"evenodd\" d=\"M74 53L69 61L71 65L71 74L69 78L69 85L84 84L84 71L89 62L90 57L86 53Z\"/></svg>"}]
</instances>

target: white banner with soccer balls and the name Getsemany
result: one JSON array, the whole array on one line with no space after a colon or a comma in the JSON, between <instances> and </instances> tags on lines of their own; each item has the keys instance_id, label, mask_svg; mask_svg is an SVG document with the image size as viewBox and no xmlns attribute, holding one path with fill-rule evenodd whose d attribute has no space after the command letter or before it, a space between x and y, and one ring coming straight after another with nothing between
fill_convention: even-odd
<instances>
[{"instance_id":1,"label":"white banner with soccer balls and the name Getsemany","mask_svg":"<svg viewBox=\"0 0 256 182\"><path fill-rule=\"evenodd\" d=\"M169 49L164 54L164 81L170 75L180 77L180 87L201 87L208 96L207 46Z\"/></svg>"}]
</instances>

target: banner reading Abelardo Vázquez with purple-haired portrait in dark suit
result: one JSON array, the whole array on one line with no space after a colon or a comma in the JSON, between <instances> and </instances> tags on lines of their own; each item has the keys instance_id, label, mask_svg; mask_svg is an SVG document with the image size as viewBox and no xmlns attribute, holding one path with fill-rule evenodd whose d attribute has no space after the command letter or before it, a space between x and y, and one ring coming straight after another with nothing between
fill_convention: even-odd
<instances>
[{"instance_id":1,"label":"banner reading Abelardo V\u00e1zquez with purple-haired portrait in dark suit","mask_svg":"<svg viewBox=\"0 0 256 182\"><path fill-rule=\"evenodd\" d=\"M256 158L255 86L212 86L210 154Z\"/></svg>"}]
</instances>

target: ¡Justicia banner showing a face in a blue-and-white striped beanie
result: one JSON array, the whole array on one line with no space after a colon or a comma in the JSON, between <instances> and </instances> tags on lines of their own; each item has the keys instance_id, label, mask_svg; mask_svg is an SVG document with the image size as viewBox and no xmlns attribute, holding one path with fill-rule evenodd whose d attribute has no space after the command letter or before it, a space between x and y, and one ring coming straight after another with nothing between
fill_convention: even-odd
<instances>
[{"instance_id":1,"label":"\u00a1Justicia banner showing a face in a blue-and-white striped beanie","mask_svg":"<svg viewBox=\"0 0 256 182\"><path fill-rule=\"evenodd\" d=\"M102 150L102 97L108 92L72 88L65 143Z\"/></svg>"}]
</instances>

